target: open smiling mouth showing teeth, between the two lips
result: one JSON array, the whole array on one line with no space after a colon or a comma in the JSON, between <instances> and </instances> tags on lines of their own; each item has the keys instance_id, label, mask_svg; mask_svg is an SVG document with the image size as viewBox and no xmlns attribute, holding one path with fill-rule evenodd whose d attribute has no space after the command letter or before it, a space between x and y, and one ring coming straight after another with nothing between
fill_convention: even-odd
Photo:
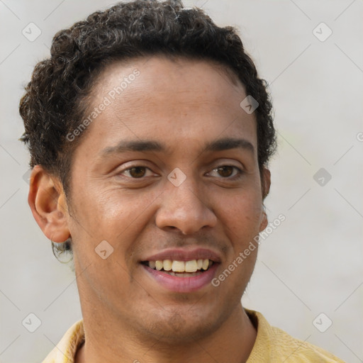
<instances>
[{"instance_id":1,"label":"open smiling mouth showing teeth, between the two lips","mask_svg":"<svg viewBox=\"0 0 363 363\"><path fill-rule=\"evenodd\" d=\"M175 277L193 277L208 271L212 266L211 259L191 259L189 261L177 261L164 259L157 261L143 261L142 264L156 271L164 272Z\"/></svg>"}]
</instances>

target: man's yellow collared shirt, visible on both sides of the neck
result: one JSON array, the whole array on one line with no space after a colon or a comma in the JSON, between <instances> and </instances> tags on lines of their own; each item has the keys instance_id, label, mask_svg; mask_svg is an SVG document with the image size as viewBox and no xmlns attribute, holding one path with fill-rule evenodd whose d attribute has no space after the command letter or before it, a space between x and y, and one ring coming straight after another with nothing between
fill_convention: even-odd
<instances>
[{"instance_id":1,"label":"man's yellow collared shirt, visible on both sides of the neck","mask_svg":"<svg viewBox=\"0 0 363 363\"><path fill-rule=\"evenodd\" d=\"M267 323L261 313L245 309L257 328L257 338L247 363L344 363L333 354L303 342ZM77 348L84 342L83 320L72 325L43 363L74 363Z\"/></svg>"}]
</instances>

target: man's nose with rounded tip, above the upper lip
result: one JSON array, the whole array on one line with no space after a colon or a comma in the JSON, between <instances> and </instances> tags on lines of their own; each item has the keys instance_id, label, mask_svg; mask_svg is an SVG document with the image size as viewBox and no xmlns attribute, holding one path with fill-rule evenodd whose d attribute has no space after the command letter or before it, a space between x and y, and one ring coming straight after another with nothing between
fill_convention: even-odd
<instances>
[{"instance_id":1,"label":"man's nose with rounded tip, above the upper lip","mask_svg":"<svg viewBox=\"0 0 363 363\"><path fill-rule=\"evenodd\" d=\"M162 230L178 230L183 235L192 235L202 228L213 228L216 214L208 206L206 194L199 190L191 178L181 185L169 183L160 198L162 202L156 215L156 225Z\"/></svg>"}]
</instances>

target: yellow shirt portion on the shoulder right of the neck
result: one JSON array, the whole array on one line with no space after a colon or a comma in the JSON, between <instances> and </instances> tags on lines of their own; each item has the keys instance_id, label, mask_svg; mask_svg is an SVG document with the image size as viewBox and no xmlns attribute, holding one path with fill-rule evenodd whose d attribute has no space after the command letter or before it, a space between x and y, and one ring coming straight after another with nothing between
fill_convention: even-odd
<instances>
[{"instance_id":1,"label":"yellow shirt portion on the shoulder right of the neck","mask_svg":"<svg viewBox=\"0 0 363 363\"><path fill-rule=\"evenodd\" d=\"M246 310L257 327L257 338L247 363L344 363L330 352L309 342L291 337L279 328L269 325L261 313Z\"/></svg>"}]
</instances>

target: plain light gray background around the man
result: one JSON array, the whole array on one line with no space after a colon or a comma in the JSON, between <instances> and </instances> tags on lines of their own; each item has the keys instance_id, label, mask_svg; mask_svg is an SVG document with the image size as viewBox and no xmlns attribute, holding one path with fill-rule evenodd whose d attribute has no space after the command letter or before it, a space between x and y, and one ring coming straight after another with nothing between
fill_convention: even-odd
<instances>
[{"instance_id":1,"label":"plain light gray background around the man","mask_svg":"<svg viewBox=\"0 0 363 363\"><path fill-rule=\"evenodd\" d=\"M27 203L28 154L18 138L18 101L52 35L111 2L0 0L0 362L41 362L81 318L74 274L57 262ZM198 0L219 25L240 28L268 80L279 130L271 164L270 220L286 216L260 246L242 301L272 325L363 362L362 155L363 2L361 0ZM41 35L22 34L35 23ZM324 42L313 29L324 22ZM326 35L327 28L315 32ZM360 135L360 136L359 136ZM320 186L324 168L332 179ZM29 333L22 320L35 313ZM320 331L324 313L333 325ZM320 327L327 323L325 316Z\"/></svg>"}]
</instances>

